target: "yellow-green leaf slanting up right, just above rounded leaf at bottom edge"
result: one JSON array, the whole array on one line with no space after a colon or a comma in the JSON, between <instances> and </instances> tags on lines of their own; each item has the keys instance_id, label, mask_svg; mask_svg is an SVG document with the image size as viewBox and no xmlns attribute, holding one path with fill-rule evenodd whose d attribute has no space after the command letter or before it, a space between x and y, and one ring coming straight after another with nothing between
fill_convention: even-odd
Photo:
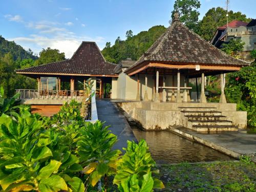
<instances>
[{"instance_id":1,"label":"yellow-green leaf slanting up right, just above rounded leaf at bottom edge","mask_svg":"<svg viewBox=\"0 0 256 192\"><path fill-rule=\"evenodd\" d=\"M56 172L61 165L61 162L51 160L48 165L45 167L42 167L36 177L36 179L41 180L41 179L47 179L48 177L51 176L52 173Z\"/></svg>"}]
</instances>

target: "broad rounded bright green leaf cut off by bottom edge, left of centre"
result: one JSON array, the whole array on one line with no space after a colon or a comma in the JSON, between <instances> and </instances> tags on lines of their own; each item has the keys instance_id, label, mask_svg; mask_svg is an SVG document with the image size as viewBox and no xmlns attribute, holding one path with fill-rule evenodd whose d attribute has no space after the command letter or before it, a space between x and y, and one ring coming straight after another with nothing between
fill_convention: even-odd
<instances>
[{"instance_id":1,"label":"broad rounded bright green leaf cut off by bottom edge, left of centre","mask_svg":"<svg viewBox=\"0 0 256 192\"><path fill-rule=\"evenodd\" d=\"M42 179L38 185L40 192L57 192L59 190L68 190L68 186L63 178L58 175Z\"/></svg>"}]
</instances>

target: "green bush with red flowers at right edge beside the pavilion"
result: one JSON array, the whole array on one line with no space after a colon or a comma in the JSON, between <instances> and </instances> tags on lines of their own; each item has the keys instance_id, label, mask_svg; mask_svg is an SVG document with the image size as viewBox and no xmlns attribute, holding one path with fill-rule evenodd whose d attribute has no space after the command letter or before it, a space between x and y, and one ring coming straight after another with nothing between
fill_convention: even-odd
<instances>
[{"instance_id":1,"label":"green bush with red flowers at right edge beside the pavilion","mask_svg":"<svg viewBox=\"0 0 256 192\"><path fill-rule=\"evenodd\" d=\"M243 67L229 73L225 93L229 102L238 103L238 110L247 111L247 124L256 126L256 67Z\"/></svg>"}]
</instances>

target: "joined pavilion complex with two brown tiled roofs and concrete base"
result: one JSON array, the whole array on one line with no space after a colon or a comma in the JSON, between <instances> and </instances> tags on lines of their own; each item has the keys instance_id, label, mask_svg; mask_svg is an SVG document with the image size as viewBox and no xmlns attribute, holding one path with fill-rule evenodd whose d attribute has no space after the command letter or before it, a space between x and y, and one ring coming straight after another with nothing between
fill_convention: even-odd
<instances>
[{"instance_id":1,"label":"joined pavilion complex with two brown tiled roofs and concrete base","mask_svg":"<svg viewBox=\"0 0 256 192\"><path fill-rule=\"evenodd\" d=\"M237 130L246 126L246 112L236 111L236 103L226 103L223 74L248 65L190 31L176 15L172 25L137 61L123 60L118 65L106 62L95 42L82 42L69 60L17 70L38 81L37 90L17 91L24 92L25 103L62 104L63 100L79 99L82 88L76 82L91 77L94 82L100 79L95 83L99 90L102 82L111 82L111 98L119 99L124 111L146 130L173 125L201 131ZM189 78L217 74L221 74L220 103L207 103L204 81L200 102L191 101ZM61 82L70 82L70 87L65 83L61 86Z\"/></svg>"}]
</instances>

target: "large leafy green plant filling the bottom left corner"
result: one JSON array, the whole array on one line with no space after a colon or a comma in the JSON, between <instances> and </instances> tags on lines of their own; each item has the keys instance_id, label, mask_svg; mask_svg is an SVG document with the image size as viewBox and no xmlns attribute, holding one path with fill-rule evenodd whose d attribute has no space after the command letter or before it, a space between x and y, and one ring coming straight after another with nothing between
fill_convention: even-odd
<instances>
[{"instance_id":1,"label":"large leafy green plant filling the bottom left corner","mask_svg":"<svg viewBox=\"0 0 256 192\"><path fill-rule=\"evenodd\" d=\"M70 173L79 169L78 158L67 151L52 151L58 135L46 131L42 121L22 110L17 121L0 117L0 182L4 191L79 191L81 180ZM70 186L70 187L69 187Z\"/></svg>"}]
</instances>

